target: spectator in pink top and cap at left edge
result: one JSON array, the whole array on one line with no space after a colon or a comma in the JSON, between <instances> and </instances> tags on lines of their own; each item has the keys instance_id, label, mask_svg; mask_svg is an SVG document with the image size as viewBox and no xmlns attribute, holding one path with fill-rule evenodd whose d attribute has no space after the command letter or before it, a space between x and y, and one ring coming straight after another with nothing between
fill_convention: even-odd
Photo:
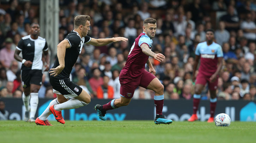
<instances>
[{"instance_id":1,"label":"spectator in pink top and cap at left edge","mask_svg":"<svg viewBox=\"0 0 256 143\"><path fill-rule=\"evenodd\" d=\"M11 49L12 39L6 38L5 48L0 50L0 62L5 68L10 68L11 62L14 60L14 50Z\"/></svg>"}]
</instances>

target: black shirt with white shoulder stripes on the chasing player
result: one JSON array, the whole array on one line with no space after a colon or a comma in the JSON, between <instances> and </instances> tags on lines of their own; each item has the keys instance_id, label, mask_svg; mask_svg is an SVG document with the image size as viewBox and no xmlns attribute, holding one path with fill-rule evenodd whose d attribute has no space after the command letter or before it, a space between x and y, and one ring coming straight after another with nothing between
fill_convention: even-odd
<instances>
[{"instance_id":1,"label":"black shirt with white shoulder stripes on the chasing player","mask_svg":"<svg viewBox=\"0 0 256 143\"><path fill-rule=\"evenodd\" d=\"M59 75L55 76L56 79L69 78L72 67L74 66L75 62L77 62L78 56L81 53L84 43L90 42L91 37L85 36L81 38L78 32L73 30L65 37L65 40L68 41L70 47L66 49L65 53L65 68ZM56 68L59 65L60 63L57 57L52 68Z\"/></svg>"}]
</instances>

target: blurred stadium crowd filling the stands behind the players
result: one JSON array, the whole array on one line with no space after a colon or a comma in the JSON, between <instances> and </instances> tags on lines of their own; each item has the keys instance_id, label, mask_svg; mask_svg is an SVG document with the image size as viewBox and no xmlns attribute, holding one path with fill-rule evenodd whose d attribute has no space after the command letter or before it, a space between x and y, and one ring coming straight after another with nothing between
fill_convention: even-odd
<instances>
[{"instance_id":1,"label":"blurred stadium crowd filling the stands behind the players","mask_svg":"<svg viewBox=\"0 0 256 143\"><path fill-rule=\"evenodd\" d=\"M218 99L256 100L256 0L60 0L59 41L73 30L74 16L89 15L92 38L123 36L128 42L107 46L84 45L71 81L92 98L119 98L118 76L125 65L143 20L157 20L152 50L165 55L150 58L156 76L165 87L166 99L192 99L195 48L206 40L206 29L215 30L222 46L223 67L218 77ZM21 63L14 57L19 40L29 35L30 24L39 23L39 5L11 0L0 4L0 97L21 98ZM52 66L52 65L51 65ZM50 66L50 67L51 67ZM208 100L206 86L202 99ZM44 72L39 98L56 98ZM154 93L139 87L134 99L152 99Z\"/></svg>"}]
</instances>

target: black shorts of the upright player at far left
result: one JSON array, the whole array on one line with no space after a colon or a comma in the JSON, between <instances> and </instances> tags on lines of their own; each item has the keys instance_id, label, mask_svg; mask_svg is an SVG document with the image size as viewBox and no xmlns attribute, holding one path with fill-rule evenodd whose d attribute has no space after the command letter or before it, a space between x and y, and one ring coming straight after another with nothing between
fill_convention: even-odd
<instances>
[{"instance_id":1,"label":"black shorts of the upright player at far left","mask_svg":"<svg viewBox=\"0 0 256 143\"><path fill-rule=\"evenodd\" d=\"M43 73L41 69L21 70L21 76L24 88L29 87L30 84L42 85Z\"/></svg>"}]
</instances>

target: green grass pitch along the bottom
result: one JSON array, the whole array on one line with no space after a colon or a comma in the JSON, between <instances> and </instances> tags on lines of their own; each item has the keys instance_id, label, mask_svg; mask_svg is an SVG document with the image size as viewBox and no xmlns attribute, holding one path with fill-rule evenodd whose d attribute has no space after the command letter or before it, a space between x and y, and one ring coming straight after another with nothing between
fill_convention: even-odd
<instances>
[{"instance_id":1,"label":"green grass pitch along the bottom","mask_svg":"<svg viewBox=\"0 0 256 143\"><path fill-rule=\"evenodd\" d=\"M255 143L256 122L232 122L216 127L207 122L51 121L37 126L24 121L0 121L1 143Z\"/></svg>"}]
</instances>

